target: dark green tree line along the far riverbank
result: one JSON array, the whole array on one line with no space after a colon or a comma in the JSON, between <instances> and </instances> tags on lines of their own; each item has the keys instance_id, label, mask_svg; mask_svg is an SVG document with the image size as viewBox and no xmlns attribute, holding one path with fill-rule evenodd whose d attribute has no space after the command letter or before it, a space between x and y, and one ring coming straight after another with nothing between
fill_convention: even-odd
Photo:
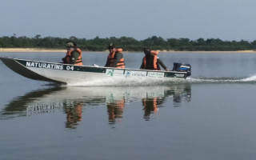
<instances>
[{"instance_id":1,"label":"dark green tree line along the far riverbank","mask_svg":"<svg viewBox=\"0 0 256 160\"><path fill-rule=\"evenodd\" d=\"M186 50L186 51L235 51L235 50L256 50L256 40L248 42L245 40L237 41L222 41L219 38L198 38L190 40L189 38L161 38L153 36L144 40L138 41L134 38L42 38L37 34L34 38L26 36L16 37L14 34L11 37L0 38L0 48L43 48L43 49L64 49L64 44L67 41L74 41L82 50L102 51L107 50L110 42L115 46L121 47L128 51L141 51L144 46L150 46L153 50Z\"/></svg>"}]
</instances>

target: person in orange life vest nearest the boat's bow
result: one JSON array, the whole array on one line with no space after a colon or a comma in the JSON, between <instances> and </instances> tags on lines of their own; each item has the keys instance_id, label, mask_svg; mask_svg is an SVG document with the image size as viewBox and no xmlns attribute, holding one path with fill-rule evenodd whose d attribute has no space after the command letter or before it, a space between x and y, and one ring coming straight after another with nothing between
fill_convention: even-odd
<instances>
[{"instance_id":1,"label":"person in orange life vest nearest the boat's bow","mask_svg":"<svg viewBox=\"0 0 256 160\"><path fill-rule=\"evenodd\" d=\"M66 57L62 61L66 64L82 66L82 50L75 42L66 42Z\"/></svg>"}]
</instances>

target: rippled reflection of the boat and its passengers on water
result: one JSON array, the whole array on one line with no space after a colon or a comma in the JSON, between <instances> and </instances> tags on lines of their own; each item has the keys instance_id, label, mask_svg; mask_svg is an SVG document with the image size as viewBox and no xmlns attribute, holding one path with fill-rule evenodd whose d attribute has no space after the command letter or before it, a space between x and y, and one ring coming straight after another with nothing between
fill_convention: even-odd
<instances>
[{"instance_id":1,"label":"rippled reflection of the boat and its passengers on water","mask_svg":"<svg viewBox=\"0 0 256 160\"><path fill-rule=\"evenodd\" d=\"M172 98L174 106L182 106L191 98L190 84L172 86L56 86L46 90L35 90L14 98L1 110L1 119L31 116L43 113L61 112L66 114L66 127L76 128L82 121L85 106L106 106L110 124L121 122L124 107L133 102L142 102L146 120L158 112L158 107Z\"/></svg>"}]
</instances>

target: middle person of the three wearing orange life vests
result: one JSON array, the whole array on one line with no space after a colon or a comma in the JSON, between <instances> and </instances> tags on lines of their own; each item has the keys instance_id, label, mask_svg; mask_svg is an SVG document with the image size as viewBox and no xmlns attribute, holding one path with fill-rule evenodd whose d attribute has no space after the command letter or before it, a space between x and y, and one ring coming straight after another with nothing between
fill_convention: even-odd
<instances>
[{"instance_id":1,"label":"middle person of the three wearing orange life vests","mask_svg":"<svg viewBox=\"0 0 256 160\"><path fill-rule=\"evenodd\" d=\"M126 68L125 59L122 55L122 48L115 48L112 43L108 46L110 54L106 60L106 67Z\"/></svg>"}]
</instances>

